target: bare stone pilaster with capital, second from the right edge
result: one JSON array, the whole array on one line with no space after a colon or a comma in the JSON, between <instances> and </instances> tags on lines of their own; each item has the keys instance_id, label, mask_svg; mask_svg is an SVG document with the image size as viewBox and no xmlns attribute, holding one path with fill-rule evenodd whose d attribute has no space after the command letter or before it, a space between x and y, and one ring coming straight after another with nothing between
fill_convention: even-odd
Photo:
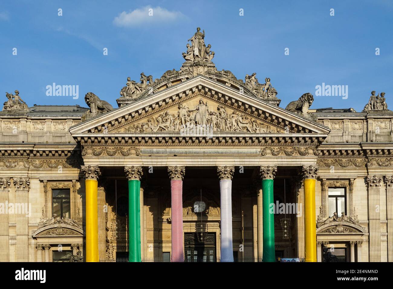
<instances>
[{"instance_id":1,"label":"bare stone pilaster with capital, second from the right edge","mask_svg":"<svg viewBox=\"0 0 393 289\"><path fill-rule=\"evenodd\" d=\"M381 221L379 214L379 191L382 176L367 177L369 213L369 256L370 262L381 261Z\"/></svg>"}]
</instances>

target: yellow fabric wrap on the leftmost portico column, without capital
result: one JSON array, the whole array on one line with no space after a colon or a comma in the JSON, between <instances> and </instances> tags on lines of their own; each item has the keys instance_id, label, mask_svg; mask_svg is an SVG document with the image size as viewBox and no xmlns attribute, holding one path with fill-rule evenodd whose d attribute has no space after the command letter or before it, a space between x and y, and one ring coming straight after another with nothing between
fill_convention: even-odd
<instances>
[{"instance_id":1,"label":"yellow fabric wrap on the leftmost portico column, without capital","mask_svg":"<svg viewBox=\"0 0 393 289\"><path fill-rule=\"evenodd\" d=\"M97 180L86 180L86 262L99 262Z\"/></svg>"}]
</instances>

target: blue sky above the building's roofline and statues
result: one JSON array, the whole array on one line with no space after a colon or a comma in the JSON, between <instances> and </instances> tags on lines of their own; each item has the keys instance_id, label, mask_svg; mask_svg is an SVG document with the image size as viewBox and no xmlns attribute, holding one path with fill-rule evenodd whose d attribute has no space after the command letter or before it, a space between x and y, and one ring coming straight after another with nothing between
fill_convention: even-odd
<instances>
[{"instance_id":1,"label":"blue sky above the building's roofline and statues","mask_svg":"<svg viewBox=\"0 0 393 289\"><path fill-rule=\"evenodd\" d=\"M29 106L86 106L91 91L116 108L128 76L179 70L199 26L217 69L270 77L281 107L325 83L348 85L348 98L315 96L311 108L361 111L376 90L392 109L392 15L393 1L382 0L2 1L0 92L18 89ZM79 99L46 96L53 82L79 85Z\"/></svg>"}]
</instances>

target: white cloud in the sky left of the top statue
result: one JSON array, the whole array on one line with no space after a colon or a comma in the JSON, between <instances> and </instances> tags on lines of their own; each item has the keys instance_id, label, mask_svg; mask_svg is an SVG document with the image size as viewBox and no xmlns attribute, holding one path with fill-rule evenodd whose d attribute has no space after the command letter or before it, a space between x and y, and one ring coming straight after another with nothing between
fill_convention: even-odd
<instances>
[{"instance_id":1,"label":"white cloud in the sky left of the top statue","mask_svg":"<svg viewBox=\"0 0 393 289\"><path fill-rule=\"evenodd\" d=\"M159 6L153 8L145 6L139 9L130 10L128 13L123 11L115 17L113 23L119 27L133 27L148 23L165 23L175 21L185 16L180 11L169 11Z\"/></svg>"}]
</instances>

